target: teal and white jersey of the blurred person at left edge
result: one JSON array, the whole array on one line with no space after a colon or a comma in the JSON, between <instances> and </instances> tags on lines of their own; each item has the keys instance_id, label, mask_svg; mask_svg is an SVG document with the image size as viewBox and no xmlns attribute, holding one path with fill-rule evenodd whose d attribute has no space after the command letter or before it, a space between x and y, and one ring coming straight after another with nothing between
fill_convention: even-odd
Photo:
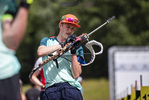
<instances>
[{"instance_id":1,"label":"teal and white jersey of the blurred person at left edge","mask_svg":"<svg viewBox=\"0 0 149 100\"><path fill-rule=\"evenodd\" d=\"M20 71L20 63L15 51L7 48L2 41L1 16L7 10L7 5L0 3L0 80L12 77Z\"/></svg>"}]
</instances>

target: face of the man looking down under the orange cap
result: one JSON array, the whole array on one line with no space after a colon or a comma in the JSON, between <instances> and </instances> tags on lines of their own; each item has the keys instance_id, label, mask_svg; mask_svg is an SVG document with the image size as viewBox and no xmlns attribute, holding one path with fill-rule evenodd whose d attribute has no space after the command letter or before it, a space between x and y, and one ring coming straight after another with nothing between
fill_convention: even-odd
<instances>
[{"instance_id":1,"label":"face of the man looking down under the orange cap","mask_svg":"<svg viewBox=\"0 0 149 100\"><path fill-rule=\"evenodd\" d=\"M76 27L72 24L60 24L60 33L64 39L67 39L68 36L72 35L76 29Z\"/></svg>"}]
</instances>

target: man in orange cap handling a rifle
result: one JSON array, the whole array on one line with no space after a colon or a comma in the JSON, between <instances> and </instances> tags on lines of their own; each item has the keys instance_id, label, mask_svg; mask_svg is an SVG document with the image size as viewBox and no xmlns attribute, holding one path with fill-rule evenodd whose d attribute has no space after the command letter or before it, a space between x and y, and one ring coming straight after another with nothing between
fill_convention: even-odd
<instances>
[{"instance_id":1,"label":"man in orange cap handling a rifle","mask_svg":"<svg viewBox=\"0 0 149 100\"><path fill-rule=\"evenodd\" d=\"M62 16L58 36L43 38L38 48L38 56L42 56L44 61L48 55L54 55L65 44L74 42L76 36L73 33L76 28L80 28L78 23L78 18L72 14ZM82 87L77 80L82 72L81 65L77 60L78 54L84 58L80 42L77 42L71 51L43 66L46 79L45 100L83 100Z\"/></svg>"}]
</instances>

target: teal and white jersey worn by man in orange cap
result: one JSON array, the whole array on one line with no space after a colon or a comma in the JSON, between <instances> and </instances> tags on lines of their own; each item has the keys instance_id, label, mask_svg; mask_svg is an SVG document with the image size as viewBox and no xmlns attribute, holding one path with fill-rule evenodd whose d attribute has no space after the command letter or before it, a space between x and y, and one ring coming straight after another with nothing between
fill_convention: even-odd
<instances>
[{"instance_id":1,"label":"teal and white jersey worn by man in orange cap","mask_svg":"<svg viewBox=\"0 0 149 100\"><path fill-rule=\"evenodd\" d=\"M43 38L40 42L40 45L52 46L59 44L59 41L56 37L54 38ZM54 55L56 52L52 53ZM83 56L83 48L80 47L77 50L77 54ZM51 54L50 54L51 55ZM48 58L48 56L42 57L43 61ZM57 68L56 62L51 60L43 66L44 77L46 79L46 88L52 86L55 83L68 82L70 85L82 89L80 83L77 79L74 79L71 73L71 53L70 51L66 52L64 55L57 59L59 68Z\"/></svg>"}]
</instances>

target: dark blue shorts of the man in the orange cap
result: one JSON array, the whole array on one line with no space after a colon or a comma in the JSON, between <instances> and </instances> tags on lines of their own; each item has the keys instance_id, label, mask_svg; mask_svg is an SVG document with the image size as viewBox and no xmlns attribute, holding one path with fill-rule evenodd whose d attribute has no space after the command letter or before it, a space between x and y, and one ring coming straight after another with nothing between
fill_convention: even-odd
<instances>
[{"instance_id":1,"label":"dark blue shorts of the man in the orange cap","mask_svg":"<svg viewBox=\"0 0 149 100\"><path fill-rule=\"evenodd\" d=\"M69 83L57 83L45 90L44 100L83 100L81 91Z\"/></svg>"}]
</instances>

